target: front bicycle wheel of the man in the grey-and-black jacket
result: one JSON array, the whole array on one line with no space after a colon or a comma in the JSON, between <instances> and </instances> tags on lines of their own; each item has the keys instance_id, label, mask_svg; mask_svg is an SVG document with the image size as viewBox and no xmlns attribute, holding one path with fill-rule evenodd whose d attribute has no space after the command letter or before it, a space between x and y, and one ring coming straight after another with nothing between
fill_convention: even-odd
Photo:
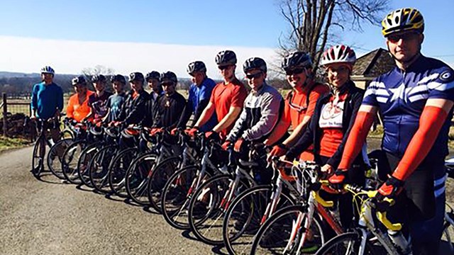
<instances>
[{"instance_id":1,"label":"front bicycle wheel of the man in the grey-and-black jacket","mask_svg":"<svg viewBox=\"0 0 454 255\"><path fill-rule=\"evenodd\" d=\"M223 217L228 209L227 191L233 192L233 197L248 188L248 183L240 181L235 191L230 185L234 179L230 174L214 176L207 180L194 192L189 203L189 226L201 242L210 245L223 244Z\"/></svg>"}]
</instances>

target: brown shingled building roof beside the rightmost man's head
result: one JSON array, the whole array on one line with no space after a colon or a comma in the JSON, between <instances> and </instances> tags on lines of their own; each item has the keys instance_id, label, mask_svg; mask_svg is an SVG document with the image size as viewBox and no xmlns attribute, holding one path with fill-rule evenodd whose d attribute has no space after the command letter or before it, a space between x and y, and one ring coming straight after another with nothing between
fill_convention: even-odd
<instances>
[{"instance_id":1,"label":"brown shingled building roof beside the rightmost man's head","mask_svg":"<svg viewBox=\"0 0 454 255\"><path fill-rule=\"evenodd\" d=\"M358 58L353 66L352 76L378 77L396 66L387 50L378 48Z\"/></svg>"}]
</instances>

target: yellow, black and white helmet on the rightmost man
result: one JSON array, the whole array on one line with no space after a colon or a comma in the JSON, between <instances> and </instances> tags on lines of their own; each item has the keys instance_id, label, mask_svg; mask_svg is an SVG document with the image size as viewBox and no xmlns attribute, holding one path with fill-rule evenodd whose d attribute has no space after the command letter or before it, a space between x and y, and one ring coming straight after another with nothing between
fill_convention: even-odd
<instances>
[{"instance_id":1,"label":"yellow, black and white helmet on the rightmost man","mask_svg":"<svg viewBox=\"0 0 454 255\"><path fill-rule=\"evenodd\" d=\"M416 8L399 8L389 13L382 21L382 34L387 37L390 33L418 30L424 31L424 19Z\"/></svg>"}]
</instances>

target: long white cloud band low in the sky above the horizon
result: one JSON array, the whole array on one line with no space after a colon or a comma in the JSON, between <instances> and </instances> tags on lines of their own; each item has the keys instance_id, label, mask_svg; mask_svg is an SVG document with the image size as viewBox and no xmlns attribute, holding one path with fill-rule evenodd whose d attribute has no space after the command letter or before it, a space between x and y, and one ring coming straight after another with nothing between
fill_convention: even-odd
<instances>
[{"instance_id":1,"label":"long white cloud band low in the sky above the horizon","mask_svg":"<svg viewBox=\"0 0 454 255\"><path fill-rule=\"evenodd\" d=\"M238 57L237 74L243 77L242 64L248 57L262 57L267 63L276 60L275 49L265 47L231 47L163 45L137 42L87 42L45 40L0 36L0 71L39 72L44 65L60 74L79 74L82 69L101 64L117 73L171 70L178 77L189 77L189 62L201 60L209 77L221 78L214 57L221 50L233 50Z\"/></svg>"}]
</instances>

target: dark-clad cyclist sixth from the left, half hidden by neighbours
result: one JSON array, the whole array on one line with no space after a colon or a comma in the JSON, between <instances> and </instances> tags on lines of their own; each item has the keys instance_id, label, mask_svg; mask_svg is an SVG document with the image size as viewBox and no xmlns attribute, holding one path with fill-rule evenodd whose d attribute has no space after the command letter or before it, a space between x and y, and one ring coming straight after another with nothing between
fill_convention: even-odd
<instances>
[{"instance_id":1,"label":"dark-clad cyclist sixth from the left, half hidden by neighbours","mask_svg":"<svg viewBox=\"0 0 454 255\"><path fill-rule=\"evenodd\" d=\"M143 125L145 127L151 127L153 125L153 118L155 116L155 107L157 106L157 101L160 96L164 95L162 86L160 84L161 74L157 71L149 72L145 74L145 81L147 81L148 86L151 89L150 92L150 101L147 103L147 115L145 120L143 120Z\"/></svg>"}]
</instances>

